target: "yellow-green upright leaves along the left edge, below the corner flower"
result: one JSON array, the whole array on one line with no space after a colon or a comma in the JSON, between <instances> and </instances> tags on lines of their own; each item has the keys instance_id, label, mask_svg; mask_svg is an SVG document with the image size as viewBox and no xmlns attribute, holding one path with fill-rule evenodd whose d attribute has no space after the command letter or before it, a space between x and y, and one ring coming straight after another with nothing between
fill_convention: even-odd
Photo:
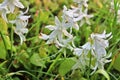
<instances>
[{"instance_id":1,"label":"yellow-green upright leaves along the left edge, below the corner flower","mask_svg":"<svg viewBox=\"0 0 120 80\"><path fill-rule=\"evenodd\" d=\"M6 59L6 50L10 47L9 37L5 35L8 33L7 30L8 27L6 22L0 18L0 59Z\"/></svg>"}]
</instances>

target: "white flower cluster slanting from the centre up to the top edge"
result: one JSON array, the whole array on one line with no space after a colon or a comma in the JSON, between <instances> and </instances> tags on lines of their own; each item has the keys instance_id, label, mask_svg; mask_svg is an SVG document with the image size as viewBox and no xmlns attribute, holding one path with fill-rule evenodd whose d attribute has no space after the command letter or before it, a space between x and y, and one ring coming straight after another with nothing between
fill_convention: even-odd
<instances>
[{"instance_id":1,"label":"white flower cluster slanting from the centre up to the top edge","mask_svg":"<svg viewBox=\"0 0 120 80\"><path fill-rule=\"evenodd\" d=\"M82 26L85 22L90 25L89 18L93 17L93 15L87 14L87 1L75 0L75 3L78 4L78 7L67 9L67 7L64 6L61 22L57 17L55 17L55 26L46 26L46 28L52 31L50 35L41 33L40 38L47 40L47 44L55 43L57 47L65 47L73 40L73 36L71 34L72 31L68 32L68 29L71 30L72 27L74 27L76 30L79 30L77 22L80 22L80 26ZM80 6L81 4L84 5ZM82 8L83 6L85 6L84 11Z\"/></svg>"}]
</instances>

